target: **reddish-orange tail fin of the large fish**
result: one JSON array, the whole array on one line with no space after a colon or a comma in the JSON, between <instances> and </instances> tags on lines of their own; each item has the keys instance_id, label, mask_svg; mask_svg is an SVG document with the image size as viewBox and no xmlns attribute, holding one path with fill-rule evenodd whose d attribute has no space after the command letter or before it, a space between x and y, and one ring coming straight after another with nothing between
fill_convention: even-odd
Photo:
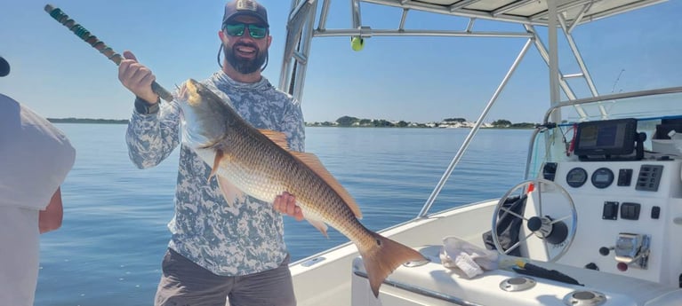
<instances>
[{"instance_id":1,"label":"reddish-orange tail fin of the large fish","mask_svg":"<svg viewBox=\"0 0 682 306\"><path fill-rule=\"evenodd\" d=\"M402 245L375 232L372 232L372 236L373 245L365 249L358 247L358 250L363 263L365 263L367 279L369 279L372 293L374 297L379 297L381 283L397 267L410 261L425 261L427 259L412 247Z\"/></svg>"}]
</instances>

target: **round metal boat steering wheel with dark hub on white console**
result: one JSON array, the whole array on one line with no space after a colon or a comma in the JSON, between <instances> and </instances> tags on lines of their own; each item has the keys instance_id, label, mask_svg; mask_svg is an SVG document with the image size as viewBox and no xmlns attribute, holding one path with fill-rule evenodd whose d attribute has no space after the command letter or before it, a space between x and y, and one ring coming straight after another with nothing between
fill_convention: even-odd
<instances>
[{"instance_id":1,"label":"round metal boat steering wheel with dark hub on white console","mask_svg":"<svg viewBox=\"0 0 682 306\"><path fill-rule=\"evenodd\" d=\"M507 199L509 199L509 197L512 195L518 194L518 191L520 191L522 195L527 195L529 198L533 197L534 208L537 211L537 216L522 216L523 213L522 215L519 215L509 210L509 208L505 208L503 206ZM565 202L567 203L566 205L568 208L570 208L570 213L568 215L552 217L544 216L542 214L543 206L557 205L542 201L542 194L544 192L550 191L555 193L559 192L565 198ZM500 237L497 232L497 224L501 220L501 216L506 216L507 214L521 219L521 226L525 226L525 229L530 233L528 233L526 237L519 237L518 242L505 249L500 243ZM568 226L566 226L565 221L569 222ZM568 192L566 192L566 190L557 183L543 178L537 178L517 184L516 186L509 189L509 192L505 193L504 196L502 196L497 202L493 212L493 231L491 232L491 236L493 238L495 248L502 255L509 254L509 252L519 247L521 244L526 243L527 240L531 239L532 237L535 237L536 239L542 239L547 252L547 261L556 262L559 258L561 258L561 256L566 254L568 247L570 247L573 243L575 230L577 229L577 221L578 214L575 210L574 201L571 199L571 196L568 194ZM554 248L552 252L550 252L550 247ZM558 249L558 252L557 247L560 248Z\"/></svg>"}]
</instances>

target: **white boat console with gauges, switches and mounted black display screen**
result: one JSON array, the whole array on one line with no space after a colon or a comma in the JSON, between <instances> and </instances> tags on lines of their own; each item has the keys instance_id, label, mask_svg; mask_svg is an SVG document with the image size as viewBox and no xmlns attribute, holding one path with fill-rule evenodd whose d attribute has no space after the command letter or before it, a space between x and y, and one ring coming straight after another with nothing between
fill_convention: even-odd
<instances>
[{"instance_id":1,"label":"white boat console with gauges, switches and mounted black display screen","mask_svg":"<svg viewBox=\"0 0 682 306\"><path fill-rule=\"evenodd\" d=\"M523 191L525 218L537 216L550 228L543 236L522 226L522 239L540 238L528 239L522 254L682 286L682 240L676 235L682 231L682 135L676 135L682 120L566 125L574 137L555 145L566 148L554 152L562 158L546 159L535 176L547 184L538 181L542 188ZM566 226L568 234L549 239L556 224Z\"/></svg>"}]
</instances>

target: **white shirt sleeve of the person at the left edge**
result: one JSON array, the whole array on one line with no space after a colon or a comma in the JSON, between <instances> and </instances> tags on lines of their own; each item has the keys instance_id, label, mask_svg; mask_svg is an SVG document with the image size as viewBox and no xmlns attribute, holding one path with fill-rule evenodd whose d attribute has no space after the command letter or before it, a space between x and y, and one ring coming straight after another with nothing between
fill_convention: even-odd
<instances>
[{"instance_id":1,"label":"white shirt sleeve of the person at the left edge","mask_svg":"<svg viewBox=\"0 0 682 306\"><path fill-rule=\"evenodd\" d=\"M75 160L60 129L0 94L0 206L44 209Z\"/></svg>"}]
</instances>

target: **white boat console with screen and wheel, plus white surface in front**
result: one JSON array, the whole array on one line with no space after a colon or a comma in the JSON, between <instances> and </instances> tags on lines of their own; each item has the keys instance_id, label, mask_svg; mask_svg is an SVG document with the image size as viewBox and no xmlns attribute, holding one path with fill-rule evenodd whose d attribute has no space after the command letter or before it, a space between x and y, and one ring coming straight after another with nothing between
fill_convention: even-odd
<instances>
[{"instance_id":1,"label":"white boat console with screen and wheel, plus white surface in front","mask_svg":"<svg viewBox=\"0 0 682 306\"><path fill-rule=\"evenodd\" d=\"M682 140L670 146L674 139L661 139L660 130L641 131L631 118L571 127L574 138L558 144L568 154L543 162L536 177L512 188L494 208L493 229L504 215L522 220L513 246L501 246L493 235L502 253L520 251L520 257L502 257L523 258L536 271L507 266L468 279L440 263L442 246L422 247L430 262L398 268L377 300L357 258L353 304L682 303L682 152L676 151ZM650 142L667 142L667 151L645 150L649 136ZM512 195L525 199L520 213L504 206Z\"/></svg>"}]
</instances>

